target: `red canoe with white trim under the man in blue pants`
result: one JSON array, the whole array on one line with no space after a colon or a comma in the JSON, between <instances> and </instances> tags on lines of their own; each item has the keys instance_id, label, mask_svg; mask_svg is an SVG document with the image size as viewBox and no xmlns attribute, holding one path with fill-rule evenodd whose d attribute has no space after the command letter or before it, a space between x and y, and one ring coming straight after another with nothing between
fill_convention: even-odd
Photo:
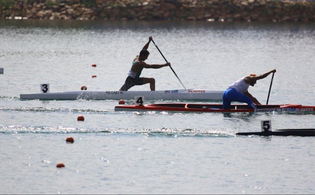
<instances>
[{"instance_id":1,"label":"red canoe with white trim under the man in blue pants","mask_svg":"<svg viewBox=\"0 0 315 195\"><path fill-rule=\"evenodd\" d=\"M148 104L148 105L120 105L115 111L188 111L188 112L300 112L315 111L315 106L302 106L299 104L284 105L257 105L258 109L249 109L247 105L231 105L231 109L222 109L221 104Z\"/></svg>"}]
</instances>

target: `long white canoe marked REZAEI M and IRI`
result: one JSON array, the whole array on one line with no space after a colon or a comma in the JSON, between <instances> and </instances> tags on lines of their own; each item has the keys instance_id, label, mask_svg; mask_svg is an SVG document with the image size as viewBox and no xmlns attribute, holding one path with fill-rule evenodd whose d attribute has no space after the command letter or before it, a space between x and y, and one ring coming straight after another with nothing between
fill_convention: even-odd
<instances>
[{"instance_id":1,"label":"long white canoe marked REZAEI M and IRI","mask_svg":"<svg viewBox=\"0 0 315 195\"><path fill-rule=\"evenodd\" d=\"M21 99L39 100L222 100L222 90L176 89L162 91L65 91L20 94Z\"/></svg>"}]
</instances>

